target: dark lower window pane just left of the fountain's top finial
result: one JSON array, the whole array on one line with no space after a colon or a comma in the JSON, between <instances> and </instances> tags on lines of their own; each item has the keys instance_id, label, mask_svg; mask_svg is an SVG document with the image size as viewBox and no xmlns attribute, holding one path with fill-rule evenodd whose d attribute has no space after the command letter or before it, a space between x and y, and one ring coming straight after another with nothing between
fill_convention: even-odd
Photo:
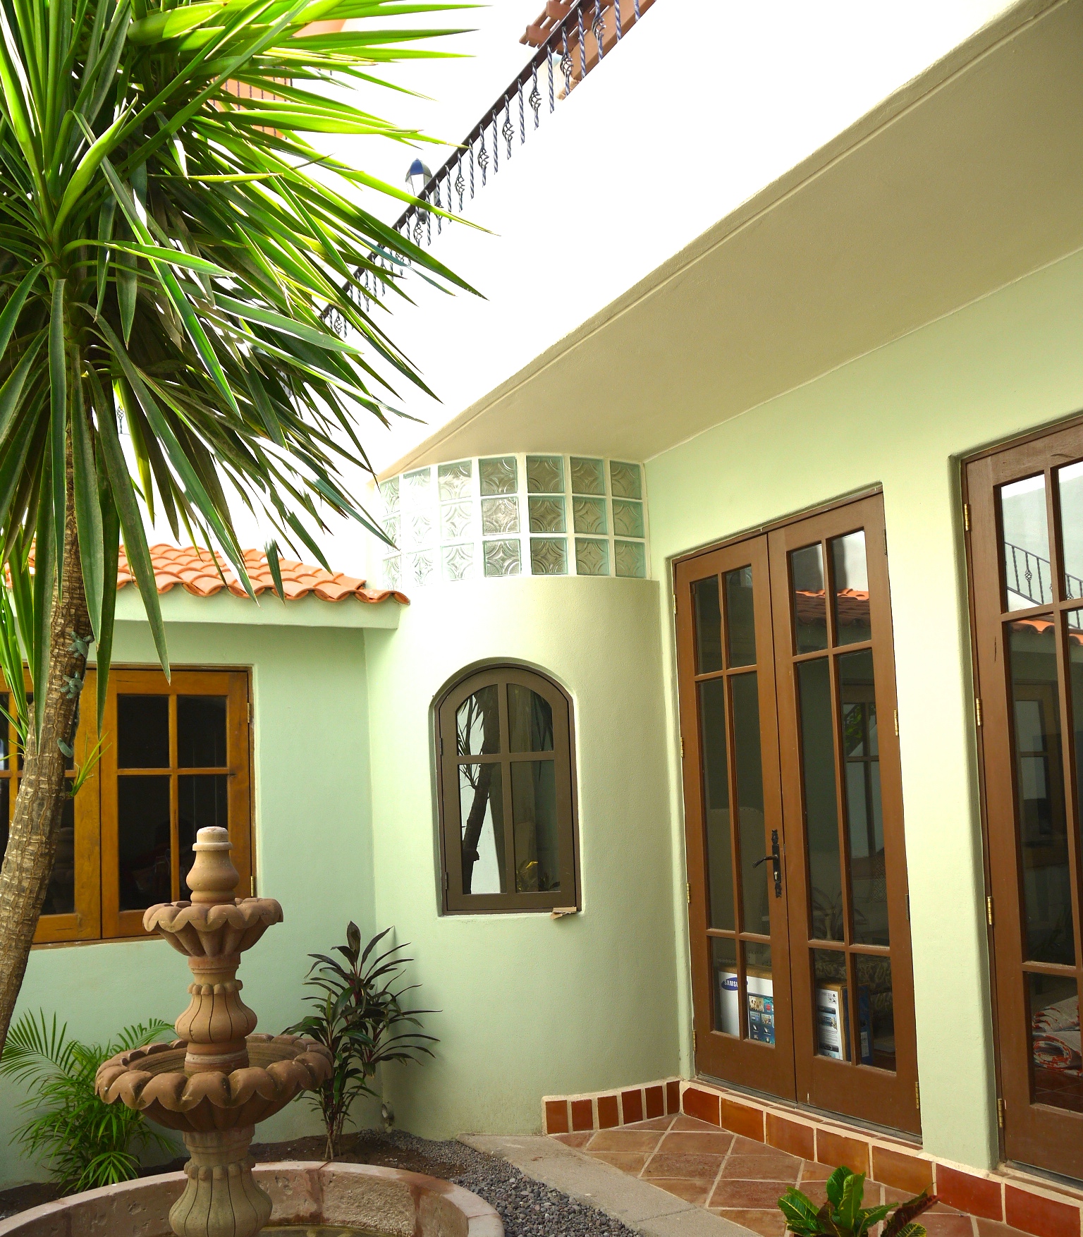
<instances>
[{"instance_id":1,"label":"dark lower window pane just left of the fountain's top finial","mask_svg":"<svg viewBox=\"0 0 1083 1237\"><path fill-rule=\"evenodd\" d=\"M173 892L168 774L116 779L116 849L120 909L146 910L158 902L169 902Z\"/></svg>"}]
</instances>

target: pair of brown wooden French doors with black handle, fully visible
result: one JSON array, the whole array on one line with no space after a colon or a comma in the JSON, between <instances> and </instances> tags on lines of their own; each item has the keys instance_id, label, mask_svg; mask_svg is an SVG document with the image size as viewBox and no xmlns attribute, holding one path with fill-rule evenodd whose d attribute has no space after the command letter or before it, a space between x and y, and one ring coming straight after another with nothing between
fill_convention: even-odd
<instances>
[{"instance_id":1,"label":"pair of brown wooden French doors with black handle, fully visible","mask_svg":"<svg viewBox=\"0 0 1083 1237\"><path fill-rule=\"evenodd\" d=\"M675 585L696 1068L917 1132L880 496Z\"/></svg>"}]
</instances>

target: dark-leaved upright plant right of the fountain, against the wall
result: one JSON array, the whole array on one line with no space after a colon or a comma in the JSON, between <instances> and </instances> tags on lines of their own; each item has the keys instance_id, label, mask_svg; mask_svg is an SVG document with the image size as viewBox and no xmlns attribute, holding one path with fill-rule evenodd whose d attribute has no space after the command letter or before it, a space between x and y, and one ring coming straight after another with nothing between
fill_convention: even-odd
<instances>
[{"instance_id":1,"label":"dark-leaved upright plant right of the fountain, against the wall","mask_svg":"<svg viewBox=\"0 0 1083 1237\"><path fill-rule=\"evenodd\" d=\"M389 931L384 928L362 951L361 930L351 922L346 928L346 944L334 948L334 952L345 959L345 965L326 954L309 954L314 961L305 983L316 988L316 995L305 1001L315 1012L302 1018L289 1032L324 1044L334 1059L331 1077L308 1096L326 1129L328 1159L341 1152L342 1129L354 1101L362 1095L376 1095L370 1079L377 1066L388 1061L417 1061L420 1053L431 1056L428 1044L438 1043L434 1035L419 1029L419 1016L435 1011L402 1006L406 993L418 986L398 986L403 966L413 961L399 952L407 946L396 945L382 954L376 952ZM404 1029L408 1027L418 1029Z\"/></svg>"}]
</instances>

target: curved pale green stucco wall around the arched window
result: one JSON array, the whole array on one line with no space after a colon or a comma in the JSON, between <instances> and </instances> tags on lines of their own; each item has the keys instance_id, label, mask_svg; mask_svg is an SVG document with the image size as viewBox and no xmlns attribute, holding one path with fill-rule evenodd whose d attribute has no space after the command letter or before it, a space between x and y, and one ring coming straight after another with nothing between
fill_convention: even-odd
<instances>
[{"instance_id":1,"label":"curved pale green stucco wall around the arched window","mask_svg":"<svg viewBox=\"0 0 1083 1237\"><path fill-rule=\"evenodd\" d=\"M677 1065L659 586L535 578L418 589L366 635L376 915L417 959L438 1055L388 1070L420 1134L537 1132L543 1095ZM431 705L478 661L545 670L571 694L582 914L439 915Z\"/></svg>"}]
</instances>

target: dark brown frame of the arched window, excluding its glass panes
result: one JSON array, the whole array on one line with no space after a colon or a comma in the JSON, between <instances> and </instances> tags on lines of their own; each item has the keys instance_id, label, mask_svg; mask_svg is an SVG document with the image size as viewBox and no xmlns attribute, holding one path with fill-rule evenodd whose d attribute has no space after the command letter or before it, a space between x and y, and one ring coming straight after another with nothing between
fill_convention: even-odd
<instances>
[{"instance_id":1,"label":"dark brown frame of the arched window, excluding its glass panes","mask_svg":"<svg viewBox=\"0 0 1083 1237\"><path fill-rule=\"evenodd\" d=\"M509 683L530 688L553 706L553 752L514 752L508 745L507 688ZM459 756L456 711L475 691L485 687L499 690L499 752L490 756ZM470 670L456 679L434 709L436 745L436 802L440 836L440 891L444 914L511 914L581 909L579 868L579 811L575 768L575 705L571 696L548 675L522 666L495 664ZM523 760L554 760L558 794L558 846L560 852L560 889L538 893L464 893L462 840L459 803L460 764L499 763L502 777L504 836L508 878L514 875L514 845L511 797L511 763Z\"/></svg>"}]
</instances>

